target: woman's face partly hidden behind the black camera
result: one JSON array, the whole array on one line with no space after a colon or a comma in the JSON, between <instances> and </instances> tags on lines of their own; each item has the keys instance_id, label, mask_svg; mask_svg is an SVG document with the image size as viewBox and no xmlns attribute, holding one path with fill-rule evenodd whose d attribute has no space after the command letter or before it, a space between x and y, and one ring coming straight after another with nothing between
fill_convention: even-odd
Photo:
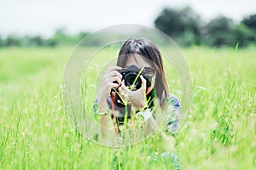
<instances>
[{"instance_id":1,"label":"woman's face partly hidden behind the black camera","mask_svg":"<svg viewBox=\"0 0 256 170\"><path fill-rule=\"evenodd\" d=\"M155 83L155 75L156 71L153 67L153 62L142 55L139 54L132 54L130 55L125 62L124 68L129 67L130 65L136 65L139 69L144 68L144 71L146 71L151 77L151 87L149 88L149 92L154 88Z\"/></svg>"}]
</instances>

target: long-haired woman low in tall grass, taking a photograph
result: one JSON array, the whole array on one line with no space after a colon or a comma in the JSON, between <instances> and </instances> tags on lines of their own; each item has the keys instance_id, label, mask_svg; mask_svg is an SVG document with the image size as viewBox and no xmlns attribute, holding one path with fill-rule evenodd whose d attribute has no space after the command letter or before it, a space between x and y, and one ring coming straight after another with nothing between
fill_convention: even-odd
<instances>
[{"instance_id":1,"label":"long-haired woman low in tall grass, taking a photograph","mask_svg":"<svg viewBox=\"0 0 256 170\"><path fill-rule=\"evenodd\" d=\"M139 73L144 73L138 77L137 81L141 84L136 89L125 86L125 77L121 74L124 68L131 65L135 65ZM102 126L98 134L99 142L115 143L125 116L128 122L132 121L132 115L142 116L146 134L154 132L158 129L154 107L159 105L162 114L167 117L166 132L160 133L163 150L174 150L175 140L172 135L177 133L180 103L174 95L169 94L163 60L154 43L144 38L128 39L119 50L117 65L109 67L102 78L100 89L94 105Z\"/></svg>"}]
</instances>

